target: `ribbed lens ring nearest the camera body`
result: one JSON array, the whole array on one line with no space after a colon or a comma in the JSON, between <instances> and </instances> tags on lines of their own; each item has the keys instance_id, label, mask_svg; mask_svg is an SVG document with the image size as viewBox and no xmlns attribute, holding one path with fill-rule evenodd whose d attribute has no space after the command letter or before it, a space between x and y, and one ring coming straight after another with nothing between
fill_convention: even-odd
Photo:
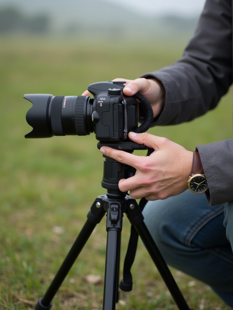
<instances>
[{"instance_id":1,"label":"ribbed lens ring nearest the camera body","mask_svg":"<svg viewBox=\"0 0 233 310\"><path fill-rule=\"evenodd\" d=\"M86 113L84 111L85 96L77 96L75 102L75 131L77 135L87 135Z\"/></svg>"}]
</instances>

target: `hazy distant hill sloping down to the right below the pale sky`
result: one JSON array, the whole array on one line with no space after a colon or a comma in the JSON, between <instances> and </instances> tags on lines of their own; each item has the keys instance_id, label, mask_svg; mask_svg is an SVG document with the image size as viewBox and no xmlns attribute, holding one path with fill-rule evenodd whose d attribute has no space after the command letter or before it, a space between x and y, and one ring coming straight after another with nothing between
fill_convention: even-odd
<instances>
[{"instance_id":1,"label":"hazy distant hill sloping down to the right below the pale sky","mask_svg":"<svg viewBox=\"0 0 233 310\"><path fill-rule=\"evenodd\" d=\"M192 33L197 18L145 16L104 0L0 0L0 10L15 7L25 16L46 15L54 32L118 33Z\"/></svg>"}]
</instances>

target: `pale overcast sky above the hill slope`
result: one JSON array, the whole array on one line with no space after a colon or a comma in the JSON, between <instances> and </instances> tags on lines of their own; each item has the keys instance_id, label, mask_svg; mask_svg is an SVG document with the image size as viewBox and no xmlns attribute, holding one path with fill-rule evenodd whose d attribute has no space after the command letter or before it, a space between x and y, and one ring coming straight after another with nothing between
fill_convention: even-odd
<instances>
[{"instance_id":1,"label":"pale overcast sky above the hill slope","mask_svg":"<svg viewBox=\"0 0 233 310\"><path fill-rule=\"evenodd\" d=\"M104 0L115 2L116 0ZM205 0L117 0L122 6L146 14L178 13L180 15L197 15L204 6Z\"/></svg>"}]
</instances>

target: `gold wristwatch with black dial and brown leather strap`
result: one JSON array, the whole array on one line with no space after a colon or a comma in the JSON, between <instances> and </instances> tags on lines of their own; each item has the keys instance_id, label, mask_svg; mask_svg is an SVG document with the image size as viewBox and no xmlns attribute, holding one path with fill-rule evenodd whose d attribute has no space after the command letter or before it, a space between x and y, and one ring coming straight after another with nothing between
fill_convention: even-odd
<instances>
[{"instance_id":1,"label":"gold wristwatch with black dial and brown leather strap","mask_svg":"<svg viewBox=\"0 0 233 310\"><path fill-rule=\"evenodd\" d=\"M204 193L208 189L199 152L193 152L193 166L188 179L188 188L196 194Z\"/></svg>"}]
</instances>

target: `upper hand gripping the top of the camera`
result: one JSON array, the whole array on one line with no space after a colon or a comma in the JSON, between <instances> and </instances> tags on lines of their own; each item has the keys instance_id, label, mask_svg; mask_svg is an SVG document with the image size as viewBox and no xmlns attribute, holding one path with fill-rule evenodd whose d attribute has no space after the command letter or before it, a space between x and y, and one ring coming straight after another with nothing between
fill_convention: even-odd
<instances>
[{"instance_id":1,"label":"upper hand gripping the top of the camera","mask_svg":"<svg viewBox=\"0 0 233 310\"><path fill-rule=\"evenodd\" d=\"M156 79L138 78L136 80L127 80L124 78L116 78L114 81L126 82L123 92L126 96L135 95L137 92L142 94L151 104L154 117L162 112L165 101L165 90L162 84ZM83 96L89 96L90 92L85 91Z\"/></svg>"}]
</instances>

